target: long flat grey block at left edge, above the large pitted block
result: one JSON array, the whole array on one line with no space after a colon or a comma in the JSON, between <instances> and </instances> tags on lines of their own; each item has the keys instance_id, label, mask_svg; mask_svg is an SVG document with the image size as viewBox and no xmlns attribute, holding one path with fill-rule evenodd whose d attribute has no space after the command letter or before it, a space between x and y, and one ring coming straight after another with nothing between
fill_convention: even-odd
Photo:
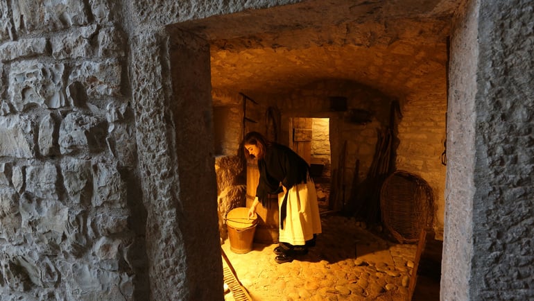
<instances>
[{"instance_id":1,"label":"long flat grey block at left edge, above the large pitted block","mask_svg":"<svg viewBox=\"0 0 534 301\"><path fill-rule=\"evenodd\" d=\"M8 62L17 58L31 58L46 54L46 44L44 37L4 43L0 46L0 60Z\"/></svg>"}]
</instances>

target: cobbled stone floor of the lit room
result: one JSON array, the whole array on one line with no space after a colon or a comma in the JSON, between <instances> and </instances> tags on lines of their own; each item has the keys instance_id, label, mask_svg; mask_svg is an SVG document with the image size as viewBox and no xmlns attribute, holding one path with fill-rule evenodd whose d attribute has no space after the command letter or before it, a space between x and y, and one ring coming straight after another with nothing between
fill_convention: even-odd
<instances>
[{"instance_id":1,"label":"cobbled stone floor of the lit room","mask_svg":"<svg viewBox=\"0 0 534 301\"><path fill-rule=\"evenodd\" d=\"M365 229L354 218L322 214L322 234L307 255L277 264L277 245L254 243L236 254L223 250L255 301L408 300L417 246L397 244ZM234 300L231 292L225 300Z\"/></svg>"}]
</instances>

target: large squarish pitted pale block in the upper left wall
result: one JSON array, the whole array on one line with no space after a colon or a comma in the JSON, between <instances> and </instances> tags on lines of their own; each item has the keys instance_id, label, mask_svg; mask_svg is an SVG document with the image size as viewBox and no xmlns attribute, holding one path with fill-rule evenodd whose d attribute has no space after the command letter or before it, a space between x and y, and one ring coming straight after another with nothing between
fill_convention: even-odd
<instances>
[{"instance_id":1,"label":"large squarish pitted pale block in the upper left wall","mask_svg":"<svg viewBox=\"0 0 534 301\"><path fill-rule=\"evenodd\" d=\"M63 64L46 65L37 61L11 65L8 93L19 112L31 105L57 109L65 105Z\"/></svg>"}]
</instances>

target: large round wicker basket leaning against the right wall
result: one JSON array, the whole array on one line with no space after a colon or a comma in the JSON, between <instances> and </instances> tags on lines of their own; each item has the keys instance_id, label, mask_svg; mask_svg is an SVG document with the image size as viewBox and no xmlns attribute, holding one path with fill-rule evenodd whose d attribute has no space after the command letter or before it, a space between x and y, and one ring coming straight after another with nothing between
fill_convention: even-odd
<instances>
[{"instance_id":1,"label":"large round wicker basket leaning against the right wall","mask_svg":"<svg viewBox=\"0 0 534 301\"><path fill-rule=\"evenodd\" d=\"M432 225L432 189L417 175L395 171L382 184L380 209L384 226L399 243L414 243Z\"/></svg>"}]
</instances>

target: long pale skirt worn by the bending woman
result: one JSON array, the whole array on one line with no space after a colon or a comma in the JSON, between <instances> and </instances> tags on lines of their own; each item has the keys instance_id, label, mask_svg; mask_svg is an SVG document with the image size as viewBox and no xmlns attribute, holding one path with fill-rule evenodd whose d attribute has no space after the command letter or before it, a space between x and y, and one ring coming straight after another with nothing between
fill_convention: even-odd
<instances>
[{"instance_id":1,"label":"long pale skirt worn by the bending woman","mask_svg":"<svg viewBox=\"0 0 534 301\"><path fill-rule=\"evenodd\" d=\"M280 193L278 195L279 209L283 200L284 193ZM280 223L282 223L281 220ZM307 183L297 184L289 189L286 220L284 229L279 229L278 240L281 243L291 243L293 246L303 246L306 241L313 239L313 234L320 232L321 219L317 191L313 180L308 179Z\"/></svg>"}]
</instances>

